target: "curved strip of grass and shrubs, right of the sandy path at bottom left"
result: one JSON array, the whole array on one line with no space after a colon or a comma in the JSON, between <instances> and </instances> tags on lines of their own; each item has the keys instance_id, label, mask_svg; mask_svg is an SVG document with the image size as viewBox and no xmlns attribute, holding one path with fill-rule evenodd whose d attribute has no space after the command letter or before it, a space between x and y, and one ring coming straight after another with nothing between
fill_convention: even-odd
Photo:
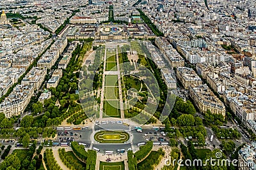
<instances>
[{"instance_id":1,"label":"curved strip of grass and shrubs, right of the sandy path at bottom left","mask_svg":"<svg viewBox=\"0 0 256 170\"><path fill-rule=\"evenodd\" d=\"M60 155L61 161L69 169L85 170L86 164L77 159L77 157L74 155L72 151L65 152L65 148L60 148L58 150L58 153Z\"/></svg>"}]
</instances>

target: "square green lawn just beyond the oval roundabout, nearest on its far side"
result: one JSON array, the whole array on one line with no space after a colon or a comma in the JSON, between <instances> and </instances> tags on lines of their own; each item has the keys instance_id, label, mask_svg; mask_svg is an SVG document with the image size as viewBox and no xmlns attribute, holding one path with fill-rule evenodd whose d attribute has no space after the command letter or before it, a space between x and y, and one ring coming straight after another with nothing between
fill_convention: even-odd
<instances>
[{"instance_id":1,"label":"square green lawn just beyond the oval roundabout, nearest on its far side","mask_svg":"<svg viewBox=\"0 0 256 170\"><path fill-rule=\"evenodd\" d=\"M104 101L103 111L105 117L118 117L120 118L120 101Z\"/></svg>"}]
</instances>

